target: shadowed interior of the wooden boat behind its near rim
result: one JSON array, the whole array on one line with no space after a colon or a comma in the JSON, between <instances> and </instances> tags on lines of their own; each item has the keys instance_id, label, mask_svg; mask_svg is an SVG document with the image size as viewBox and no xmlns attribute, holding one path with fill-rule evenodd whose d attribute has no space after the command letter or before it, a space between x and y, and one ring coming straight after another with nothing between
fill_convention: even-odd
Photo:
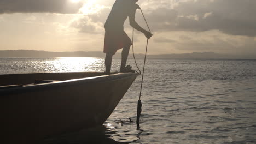
<instances>
[{"instance_id":1,"label":"shadowed interior of the wooden boat behind its near rim","mask_svg":"<svg viewBox=\"0 0 256 144\"><path fill-rule=\"evenodd\" d=\"M116 73L116 72L115 72ZM112 73L114 74L114 73ZM30 73L0 75L0 89L38 85L71 79L81 79L106 75L104 72L71 72L71 73Z\"/></svg>"}]
</instances>

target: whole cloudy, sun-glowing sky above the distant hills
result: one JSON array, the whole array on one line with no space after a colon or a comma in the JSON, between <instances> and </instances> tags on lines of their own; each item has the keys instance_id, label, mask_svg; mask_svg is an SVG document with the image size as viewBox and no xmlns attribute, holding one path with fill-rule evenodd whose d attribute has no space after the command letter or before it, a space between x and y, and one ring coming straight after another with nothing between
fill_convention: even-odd
<instances>
[{"instance_id":1,"label":"whole cloudy, sun-glowing sky above the distant hills","mask_svg":"<svg viewBox=\"0 0 256 144\"><path fill-rule=\"evenodd\" d=\"M103 51L103 26L114 1L0 0L0 50ZM154 34L149 54L256 55L255 0L139 0L138 4ZM139 10L136 21L148 30ZM129 19L125 32L132 38ZM135 53L144 53L146 42L136 31Z\"/></svg>"}]
</instances>

